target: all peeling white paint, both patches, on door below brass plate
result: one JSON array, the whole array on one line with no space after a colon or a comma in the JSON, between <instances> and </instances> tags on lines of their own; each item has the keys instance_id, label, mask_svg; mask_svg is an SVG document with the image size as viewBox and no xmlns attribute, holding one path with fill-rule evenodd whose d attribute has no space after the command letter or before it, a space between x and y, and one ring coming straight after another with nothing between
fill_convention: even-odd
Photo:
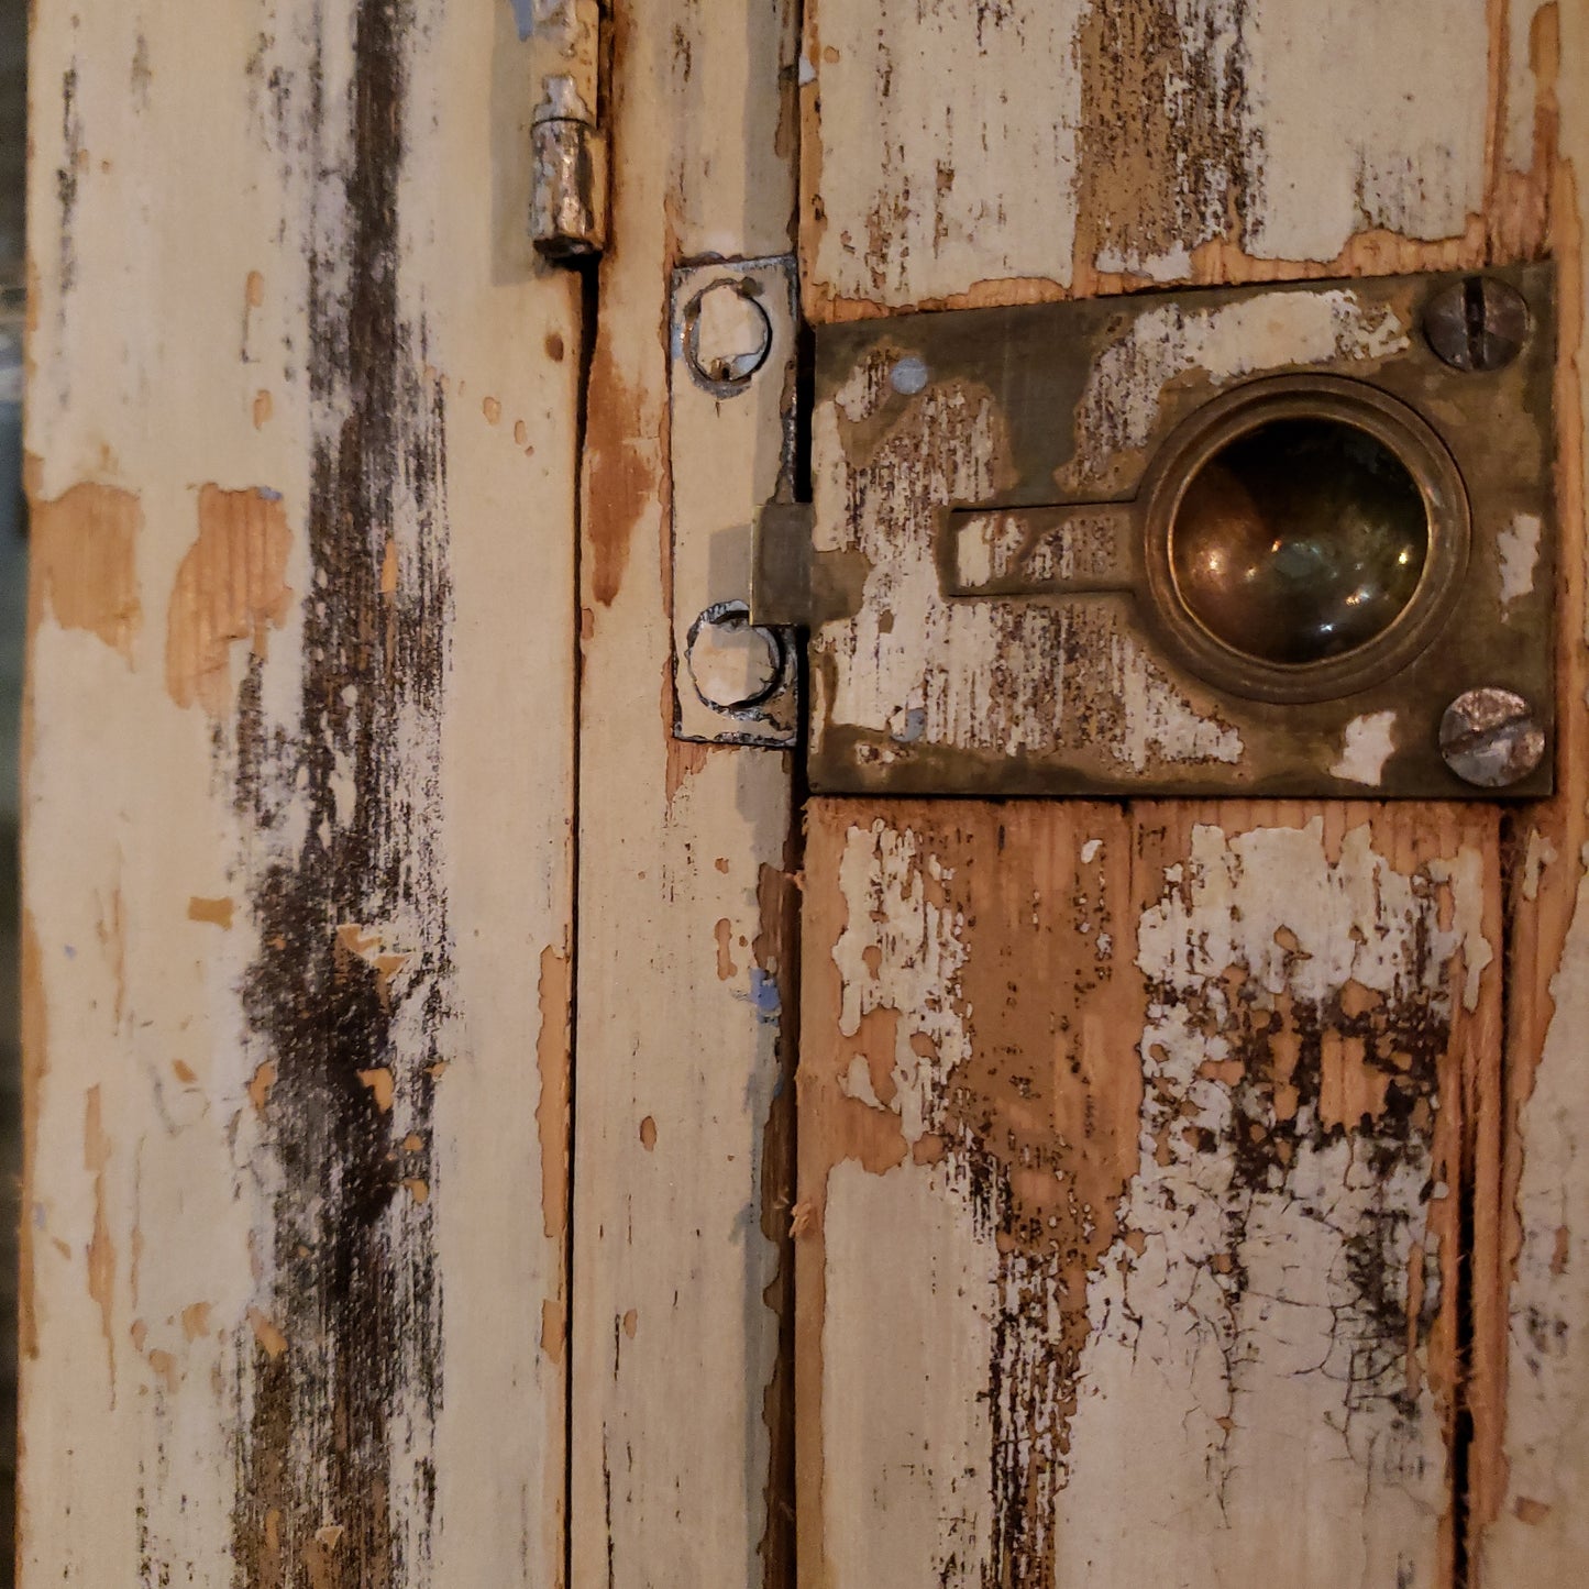
<instances>
[{"instance_id":1,"label":"all peeling white paint, both patches, on door below brass plate","mask_svg":"<svg viewBox=\"0 0 1589 1589\"><path fill-rule=\"evenodd\" d=\"M1082 864L1103 849L1081 841ZM1459 849L1401 871L1367 825L1332 858L1320 818L1236 836L1198 826L1187 858L1165 868L1138 920L1149 999L1136 1168L1120 1206L1093 1211L1120 1235L1085 1271L1074 1413L1006 1398L1068 1382L1057 1354L1082 1276L1001 1239L952 1147L936 1163L906 1155L877 1173L842 1158L828 1171L822 1538L836 1584L977 1589L1009 1559L990 1527L1019 1513L1026 1548L1052 1548L1057 1584L1233 1589L1284 1564L1301 1589L1433 1589L1449 1505L1430 1378L1444 1306L1440 1093L1411 1123L1371 1106L1332 1119L1341 1098L1328 1101L1314 1049L1311 1081L1282 1106L1276 1034L1306 1044L1328 1031L1352 987L1381 999L1387 1050L1422 1044L1409 1063L1435 1087L1430 1033L1460 996L1456 957L1471 971L1487 950L1475 936L1479 863ZM920 1130L945 1128L934 1111L972 1057L972 960L1011 941L963 914L955 871L909 825L852 822L837 871L839 1034L898 1017L890 1079L915 1096L871 1106L920 1144ZM853 1060L841 1095L871 1090L890 1055L868 1054L874 1069ZM1255 1127L1286 1152L1239 1152ZM1001 1487L1011 1470L995 1471L999 1427L1025 1430L1030 1486L1014 1494ZM1052 1516L1030 1510L1047 1505Z\"/></svg>"}]
</instances>

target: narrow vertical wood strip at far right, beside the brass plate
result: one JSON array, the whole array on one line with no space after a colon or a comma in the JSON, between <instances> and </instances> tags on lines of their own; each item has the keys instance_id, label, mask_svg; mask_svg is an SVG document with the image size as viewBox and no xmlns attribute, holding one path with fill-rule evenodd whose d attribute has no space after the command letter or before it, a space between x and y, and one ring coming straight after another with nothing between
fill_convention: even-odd
<instances>
[{"instance_id":1,"label":"narrow vertical wood strip at far right, beside the brass plate","mask_svg":"<svg viewBox=\"0 0 1589 1589\"><path fill-rule=\"evenodd\" d=\"M1522 41L1519 40L1519 44ZM1516 48L1516 46L1514 46ZM1559 259L1556 388L1562 524L1559 788L1513 823L1506 982L1506 1133L1497 1228L1478 1258L1492 1365L1473 1462L1475 1581L1505 1589L1578 1584L1589 1570L1589 618L1584 609L1584 375L1589 288L1583 197L1589 168L1589 19L1545 8L1527 40L1537 143L1552 172ZM1557 111L1560 143L1556 146ZM1487 1260L1487 1262L1486 1262Z\"/></svg>"}]
</instances>

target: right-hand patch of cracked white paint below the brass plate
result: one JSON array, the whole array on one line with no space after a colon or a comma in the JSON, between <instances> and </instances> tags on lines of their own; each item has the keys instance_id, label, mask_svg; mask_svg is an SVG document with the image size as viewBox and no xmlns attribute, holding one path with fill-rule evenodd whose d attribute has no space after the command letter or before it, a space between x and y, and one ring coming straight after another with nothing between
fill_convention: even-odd
<instances>
[{"instance_id":1,"label":"right-hand patch of cracked white paint below the brass plate","mask_svg":"<svg viewBox=\"0 0 1589 1589\"><path fill-rule=\"evenodd\" d=\"M1349 1260L1376 1231L1370 1262L1405 1308L1422 1249L1433 1305L1429 1136L1387 1173L1357 1133L1320 1133L1305 1101L1295 1157L1258 1185L1227 1146L1198 1142L1206 1131L1228 1144L1249 1119L1208 1074L1233 1057L1227 968L1247 974L1243 996L1258 1009L1282 995L1322 1007L1347 980L1392 998L1422 987L1449 1006L1441 976L1459 934L1367 828L1346 834L1338 861L1317 820L1235 837L1197 828L1165 885L1138 939L1162 988L1141 1042L1141 1165L1125 1235L1088 1281L1055 1583L1230 1589L1284 1564L1298 1589L1433 1584L1448 1505L1440 1408L1398 1362L1363 1355L1379 1325ZM1411 1406L1394 1400L1403 1394Z\"/></svg>"}]
</instances>

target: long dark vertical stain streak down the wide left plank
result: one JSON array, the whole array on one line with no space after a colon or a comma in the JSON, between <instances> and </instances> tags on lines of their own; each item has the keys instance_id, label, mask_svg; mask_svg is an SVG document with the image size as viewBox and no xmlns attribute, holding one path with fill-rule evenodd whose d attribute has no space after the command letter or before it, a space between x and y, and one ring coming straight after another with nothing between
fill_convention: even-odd
<instances>
[{"instance_id":1,"label":"long dark vertical stain streak down the wide left plank","mask_svg":"<svg viewBox=\"0 0 1589 1589\"><path fill-rule=\"evenodd\" d=\"M362 1589L389 1589L399 1573L415 1581L423 1567L399 1560L399 1533L424 1537L434 1506L427 1457L394 1497L389 1427L399 1403L423 1419L440 1397L432 1204L400 1190L404 1179L434 1184L424 1144L451 969L434 799L450 605L443 399L423 377L424 326L397 300L405 48L416 33L407 0L356 6L340 168L329 118L342 102L323 97L318 59L307 75L302 157L324 175L308 222L307 375L319 423L302 693L296 723L267 726L256 658L238 702L238 809L264 829L261 850L286 831L289 804L302 820L291 831L305 834L249 879L261 950L243 1001L256 1058L275 1066L262 1112L283 1179L264 1238L272 1279L259 1311L272 1333L254 1351L232 1519L234 1583L249 1589L308 1589L327 1572ZM326 33L315 44L316 56L335 48ZM400 590L385 591L388 537L402 531L413 550ZM342 806L338 766L353 787ZM412 934L397 990L350 952L338 931L348 923ZM399 1039L399 1022L424 1036ZM383 1109L361 1079L378 1071L399 1108ZM418 1150L397 1150L405 1135ZM334 1568L327 1519L342 1529Z\"/></svg>"}]
</instances>

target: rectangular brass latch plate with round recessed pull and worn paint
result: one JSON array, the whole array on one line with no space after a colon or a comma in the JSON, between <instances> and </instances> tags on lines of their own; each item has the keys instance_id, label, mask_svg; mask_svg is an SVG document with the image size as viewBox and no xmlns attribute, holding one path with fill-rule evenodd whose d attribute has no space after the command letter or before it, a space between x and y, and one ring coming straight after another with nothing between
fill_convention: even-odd
<instances>
[{"instance_id":1,"label":"rectangular brass latch plate with round recessed pull and worn paint","mask_svg":"<svg viewBox=\"0 0 1589 1589\"><path fill-rule=\"evenodd\" d=\"M1549 265L823 327L812 787L1549 790L1552 359Z\"/></svg>"}]
</instances>

